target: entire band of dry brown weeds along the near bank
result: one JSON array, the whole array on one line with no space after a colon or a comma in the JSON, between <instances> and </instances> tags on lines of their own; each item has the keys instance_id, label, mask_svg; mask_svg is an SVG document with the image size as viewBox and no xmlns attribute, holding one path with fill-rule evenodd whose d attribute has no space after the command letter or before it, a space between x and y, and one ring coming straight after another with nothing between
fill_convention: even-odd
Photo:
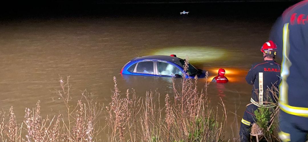
<instances>
[{"instance_id":1,"label":"entire band of dry brown weeds along the near bank","mask_svg":"<svg viewBox=\"0 0 308 142\"><path fill-rule=\"evenodd\" d=\"M186 62L186 68L187 68ZM208 76L208 75L207 75ZM98 117L102 107L93 101L91 93L83 91L76 105L70 105L69 77L60 77L57 91L66 113L41 116L40 101L35 108L25 109L25 119L16 121L13 107L7 115L1 112L0 140L2 141L226 141L224 140L227 112L220 105L211 107L206 82L201 92L197 77L182 78L180 86L173 79L173 94L150 91L145 97L136 97L134 90L121 95L114 77L114 93L107 109L105 139L98 139L102 130ZM163 107L162 107L163 106ZM218 113L222 112L222 116Z\"/></svg>"}]
</instances>

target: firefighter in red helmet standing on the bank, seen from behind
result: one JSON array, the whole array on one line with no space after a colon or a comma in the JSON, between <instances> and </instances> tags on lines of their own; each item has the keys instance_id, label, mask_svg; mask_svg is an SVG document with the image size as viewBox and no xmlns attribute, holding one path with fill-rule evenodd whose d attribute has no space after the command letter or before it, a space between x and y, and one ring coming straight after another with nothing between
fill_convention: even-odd
<instances>
[{"instance_id":1,"label":"firefighter in red helmet standing on the bank, seen from behind","mask_svg":"<svg viewBox=\"0 0 308 142\"><path fill-rule=\"evenodd\" d=\"M250 128L255 121L254 111L263 105L264 107L274 107L273 104L265 102L276 102L270 89L274 86L278 88L281 65L274 61L277 46L273 41L268 41L261 47L264 61L253 64L249 70L246 81L253 85L251 105L248 105L241 120L240 139L242 142L250 141Z\"/></svg>"}]
</instances>

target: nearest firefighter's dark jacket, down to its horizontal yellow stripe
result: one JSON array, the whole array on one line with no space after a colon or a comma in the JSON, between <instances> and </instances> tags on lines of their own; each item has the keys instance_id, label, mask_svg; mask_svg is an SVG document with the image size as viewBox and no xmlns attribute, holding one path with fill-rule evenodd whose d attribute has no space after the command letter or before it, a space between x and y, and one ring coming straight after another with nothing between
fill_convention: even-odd
<instances>
[{"instance_id":1,"label":"nearest firefighter's dark jacket, down to its horizontal yellow stripe","mask_svg":"<svg viewBox=\"0 0 308 142\"><path fill-rule=\"evenodd\" d=\"M282 57L281 108L308 117L308 0L285 10L273 32L271 38Z\"/></svg>"}]
</instances>

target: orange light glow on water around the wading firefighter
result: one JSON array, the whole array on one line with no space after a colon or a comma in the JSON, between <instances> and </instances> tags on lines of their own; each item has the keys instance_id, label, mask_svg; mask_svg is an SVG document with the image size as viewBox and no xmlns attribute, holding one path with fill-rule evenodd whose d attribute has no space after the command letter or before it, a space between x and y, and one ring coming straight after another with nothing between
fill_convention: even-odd
<instances>
[{"instance_id":1,"label":"orange light glow on water around the wading firefighter","mask_svg":"<svg viewBox=\"0 0 308 142\"><path fill-rule=\"evenodd\" d=\"M229 82L245 82L245 77L248 73L247 69L240 69L240 68L229 68L229 67L220 67L225 69L225 77L228 78ZM214 77L218 74L218 67L214 68L206 68L204 70L207 70L210 74L209 80L212 81Z\"/></svg>"}]
</instances>

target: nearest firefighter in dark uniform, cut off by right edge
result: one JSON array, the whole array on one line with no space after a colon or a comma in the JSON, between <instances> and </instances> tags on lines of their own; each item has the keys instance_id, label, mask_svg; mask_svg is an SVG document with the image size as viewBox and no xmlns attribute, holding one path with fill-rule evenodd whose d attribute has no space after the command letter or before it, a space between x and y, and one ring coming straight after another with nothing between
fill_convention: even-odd
<instances>
[{"instance_id":1,"label":"nearest firefighter in dark uniform, cut off by right edge","mask_svg":"<svg viewBox=\"0 0 308 142\"><path fill-rule=\"evenodd\" d=\"M274 24L270 39L282 57L279 95L279 137L306 141L308 134L308 0L286 9Z\"/></svg>"}]
</instances>

